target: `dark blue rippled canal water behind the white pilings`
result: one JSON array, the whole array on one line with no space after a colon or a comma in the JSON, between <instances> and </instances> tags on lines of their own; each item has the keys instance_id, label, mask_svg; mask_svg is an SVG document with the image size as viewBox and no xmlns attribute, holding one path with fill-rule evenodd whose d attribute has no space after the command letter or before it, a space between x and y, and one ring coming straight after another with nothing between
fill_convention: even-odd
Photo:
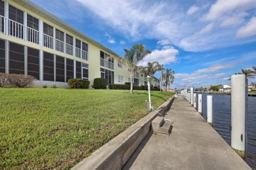
<instances>
[{"instance_id":1,"label":"dark blue rippled canal water behind the white pilings","mask_svg":"<svg viewBox=\"0 0 256 170\"><path fill-rule=\"evenodd\" d=\"M231 96L203 93L202 111L205 120L207 120L207 95L213 95L213 128L226 143L231 145ZM196 98L198 99L198 94ZM248 97L245 161L256 170L256 97Z\"/></svg>"}]
</instances>

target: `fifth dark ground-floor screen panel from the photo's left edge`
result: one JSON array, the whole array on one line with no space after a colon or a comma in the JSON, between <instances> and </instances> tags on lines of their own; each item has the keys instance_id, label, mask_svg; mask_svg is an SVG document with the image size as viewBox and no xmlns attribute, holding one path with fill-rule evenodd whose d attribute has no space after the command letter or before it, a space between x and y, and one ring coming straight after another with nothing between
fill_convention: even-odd
<instances>
[{"instance_id":1,"label":"fifth dark ground-floor screen panel from the photo's left edge","mask_svg":"<svg viewBox=\"0 0 256 170\"><path fill-rule=\"evenodd\" d=\"M65 82L65 58L56 56L56 81Z\"/></svg>"}]
</instances>

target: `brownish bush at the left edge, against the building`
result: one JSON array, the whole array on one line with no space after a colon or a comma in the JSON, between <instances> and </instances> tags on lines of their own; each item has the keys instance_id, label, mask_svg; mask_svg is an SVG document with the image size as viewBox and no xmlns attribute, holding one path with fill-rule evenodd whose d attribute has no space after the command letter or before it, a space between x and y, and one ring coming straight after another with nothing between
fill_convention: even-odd
<instances>
[{"instance_id":1,"label":"brownish bush at the left edge, against the building","mask_svg":"<svg viewBox=\"0 0 256 170\"><path fill-rule=\"evenodd\" d=\"M3 88L31 87L34 80L34 76L0 73L0 86Z\"/></svg>"}]
</instances>

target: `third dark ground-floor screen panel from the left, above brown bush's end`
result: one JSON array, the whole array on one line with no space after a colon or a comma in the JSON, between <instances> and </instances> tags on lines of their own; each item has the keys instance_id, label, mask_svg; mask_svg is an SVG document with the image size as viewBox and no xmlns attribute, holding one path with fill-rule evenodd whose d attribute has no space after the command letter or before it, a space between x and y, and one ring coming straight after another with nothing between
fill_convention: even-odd
<instances>
[{"instance_id":1,"label":"third dark ground-floor screen panel from the left, above brown bush's end","mask_svg":"<svg viewBox=\"0 0 256 170\"><path fill-rule=\"evenodd\" d=\"M39 80L39 50L28 47L28 75Z\"/></svg>"}]
</instances>

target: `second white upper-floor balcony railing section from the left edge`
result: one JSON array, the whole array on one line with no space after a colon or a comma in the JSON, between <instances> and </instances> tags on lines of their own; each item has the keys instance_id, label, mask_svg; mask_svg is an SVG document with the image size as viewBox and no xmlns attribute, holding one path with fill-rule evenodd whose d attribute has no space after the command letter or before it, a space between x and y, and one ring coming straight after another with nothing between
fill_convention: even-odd
<instances>
[{"instance_id":1,"label":"second white upper-floor balcony railing section from the left edge","mask_svg":"<svg viewBox=\"0 0 256 170\"><path fill-rule=\"evenodd\" d=\"M8 35L17 39L24 39L24 25L13 20L9 20Z\"/></svg>"}]
</instances>

